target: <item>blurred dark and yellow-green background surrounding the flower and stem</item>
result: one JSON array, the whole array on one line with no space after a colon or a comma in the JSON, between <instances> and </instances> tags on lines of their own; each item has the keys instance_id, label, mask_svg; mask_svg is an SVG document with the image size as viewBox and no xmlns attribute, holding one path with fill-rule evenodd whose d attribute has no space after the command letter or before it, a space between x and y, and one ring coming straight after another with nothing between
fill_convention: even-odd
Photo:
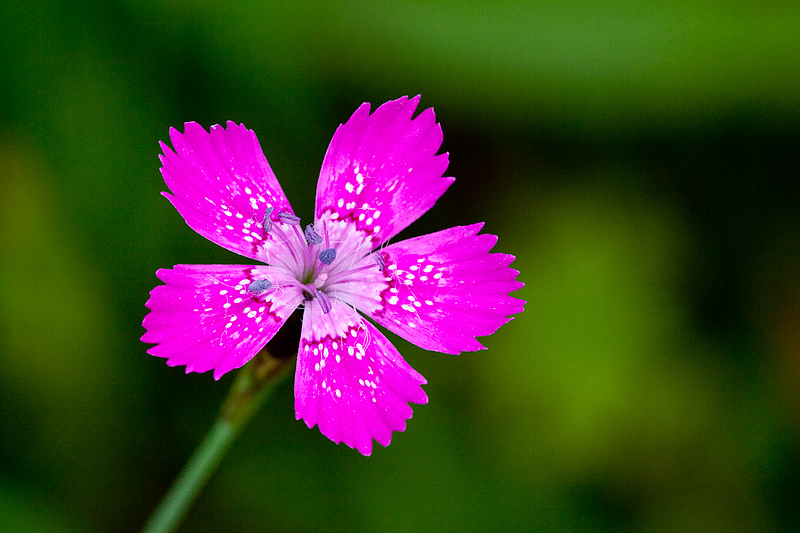
<instances>
[{"instance_id":1,"label":"blurred dark and yellow-green background surrounding the flower and stem","mask_svg":"<svg viewBox=\"0 0 800 533\"><path fill-rule=\"evenodd\" d=\"M0 531L136 531L232 382L145 353L155 271L240 263L159 140L255 130L295 211L364 101L422 94L526 310L372 457L291 383L183 531L800 530L800 4L0 3ZM245 261L246 262L246 261Z\"/></svg>"}]
</instances>

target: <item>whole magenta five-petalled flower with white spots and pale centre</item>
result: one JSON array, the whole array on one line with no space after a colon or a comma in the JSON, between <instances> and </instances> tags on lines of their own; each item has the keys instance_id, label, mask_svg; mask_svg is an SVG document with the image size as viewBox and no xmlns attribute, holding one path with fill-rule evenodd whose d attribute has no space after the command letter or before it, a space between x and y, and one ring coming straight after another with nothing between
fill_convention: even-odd
<instances>
[{"instance_id":1,"label":"whole magenta five-petalled flower with white spots and pale centre","mask_svg":"<svg viewBox=\"0 0 800 533\"><path fill-rule=\"evenodd\" d=\"M480 350L524 302L511 255L490 254L483 224L384 246L453 183L433 109L419 97L363 104L333 136L317 184L313 224L292 211L255 134L227 123L170 129L163 193L207 239L265 265L161 269L142 340L148 353L214 378L247 363L298 307L303 323L295 412L309 428L362 454L383 446L428 401L419 373L364 315L417 346Z\"/></svg>"}]
</instances>

